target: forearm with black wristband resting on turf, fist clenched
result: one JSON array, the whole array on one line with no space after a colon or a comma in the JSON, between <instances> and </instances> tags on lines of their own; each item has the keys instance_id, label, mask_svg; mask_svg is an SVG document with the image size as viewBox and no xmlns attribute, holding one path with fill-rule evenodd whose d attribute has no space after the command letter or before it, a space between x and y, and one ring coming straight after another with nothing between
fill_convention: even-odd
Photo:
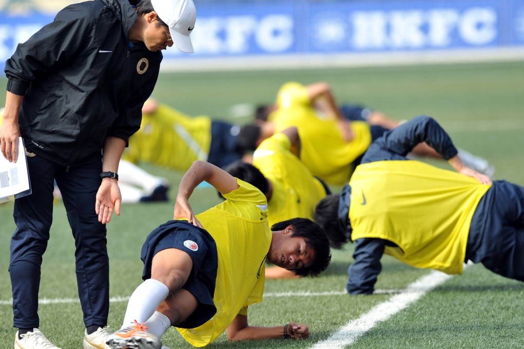
<instances>
[{"instance_id":1,"label":"forearm with black wristband resting on turf, fist clenched","mask_svg":"<svg viewBox=\"0 0 524 349\"><path fill-rule=\"evenodd\" d=\"M291 339L301 339L309 337L307 325L290 322L287 325L275 327L250 326L247 323L247 316L238 314L233 322L227 327L226 333L230 341L245 341L255 339L275 339L285 337Z\"/></svg>"}]
</instances>

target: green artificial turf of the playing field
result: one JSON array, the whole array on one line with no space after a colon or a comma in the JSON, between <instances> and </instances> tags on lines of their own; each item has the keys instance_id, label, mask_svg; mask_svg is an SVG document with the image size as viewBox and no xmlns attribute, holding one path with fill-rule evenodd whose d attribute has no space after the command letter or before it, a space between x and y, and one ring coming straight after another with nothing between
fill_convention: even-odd
<instances>
[{"instance_id":1,"label":"green artificial turf of the playing field","mask_svg":"<svg viewBox=\"0 0 524 349\"><path fill-rule=\"evenodd\" d=\"M282 83L326 81L340 103L362 103L391 118L417 115L436 118L456 145L488 159L496 179L524 185L524 64L522 62L443 64L352 69L290 71L162 73L154 96L189 115L209 115L248 122L232 106L270 103ZM1 80L0 83L5 83ZM3 100L0 101L3 104ZM176 151L173 151L176 156ZM447 167L445 163L432 162ZM180 173L154 165L143 167L169 179L170 202L123 205L122 215L108 224L111 297L128 297L141 282L141 244L159 224L172 219ZM448 167L449 168L449 167ZM340 188L332 188L335 192ZM219 202L214 189L196 189L191 204L196 212ZM0 205L0 348L13 346L15 330L8 274L10 235L15 229L13 202ZM250 307L249 322L281 325L294 320L310 325L307 341L249 341L229 343L222 335L210 347L306 348L324 340L348 321L358 319L389 294L344 294L352 245L333 252L333 262L316 279L267 280L264 302ZM383 258L377 288L398 290L428 271ZM42 265L40 298L57 303L39 307L40 329L63 349L79 348L83 336L74 275L74 242L61 202L54 205L51 239ZM379 323L352 348L516 348L524 346L522 309L524 284L472 266L407 309ZM278 296L280 292L296 292ZM334 292L303 295L299 292ZM126 302L111 303L110 325L121 324ZM190 348L175 330L165 336L172 348Z\"/></svg>"}]
</instances>

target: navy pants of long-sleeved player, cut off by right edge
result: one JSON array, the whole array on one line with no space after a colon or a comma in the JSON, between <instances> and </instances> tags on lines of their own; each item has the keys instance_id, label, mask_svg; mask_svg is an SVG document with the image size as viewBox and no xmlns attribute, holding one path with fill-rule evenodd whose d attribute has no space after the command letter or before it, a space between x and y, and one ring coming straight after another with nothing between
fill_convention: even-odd
<instances>
[{"instance_id":1,"label":"navy pants of long-sleeved player, cut off by right edge","mask_svg":"<svg viewBox=\"0 0 524 349\"><path fill-rule=\"evenodd\" d=\"M471 221L466 261L524 281L524 188L494 181Z\"/></svg>"}]
</instances>

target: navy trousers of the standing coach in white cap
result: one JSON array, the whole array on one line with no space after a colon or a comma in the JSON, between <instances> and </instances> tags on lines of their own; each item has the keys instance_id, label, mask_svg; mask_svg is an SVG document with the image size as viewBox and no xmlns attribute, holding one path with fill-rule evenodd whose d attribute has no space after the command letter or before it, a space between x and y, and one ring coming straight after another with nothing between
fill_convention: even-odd
<instances>
[{"instance_id":1,"label":"navy trousers of the standing coach in white cap","mask_svg":"<svg viewBox=\"0 0 524 349\"><path fill-rule=\"evenodd\" d=\"M53 217L54 179L60 188L75 241L77 285L86 326L107 323L109 260L105 224L95 212L102 160L66 168L40 156L27 157L32 194L16 199L16 230L11 240L9 273L15 328L36 328L40 266Z\"/></svg>"}]
</instances>

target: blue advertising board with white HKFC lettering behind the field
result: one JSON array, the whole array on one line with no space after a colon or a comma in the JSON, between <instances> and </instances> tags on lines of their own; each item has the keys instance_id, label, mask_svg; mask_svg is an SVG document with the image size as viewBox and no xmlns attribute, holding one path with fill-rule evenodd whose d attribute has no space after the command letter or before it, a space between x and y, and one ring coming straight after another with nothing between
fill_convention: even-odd
<instances>
[{"instance_id":1,"label":"blue advertising board with white HKFC lettering behind the field","mask_svg":"<svg viewBox=\"0 0 524 349\"><path fill-rule=\"evenodd\" d=\"M194 54L171 58L279 57L452 51L524 46L524 0L196 2ZM0 65L53 15L0 18Z\"/></svg>"}]
</instances>

